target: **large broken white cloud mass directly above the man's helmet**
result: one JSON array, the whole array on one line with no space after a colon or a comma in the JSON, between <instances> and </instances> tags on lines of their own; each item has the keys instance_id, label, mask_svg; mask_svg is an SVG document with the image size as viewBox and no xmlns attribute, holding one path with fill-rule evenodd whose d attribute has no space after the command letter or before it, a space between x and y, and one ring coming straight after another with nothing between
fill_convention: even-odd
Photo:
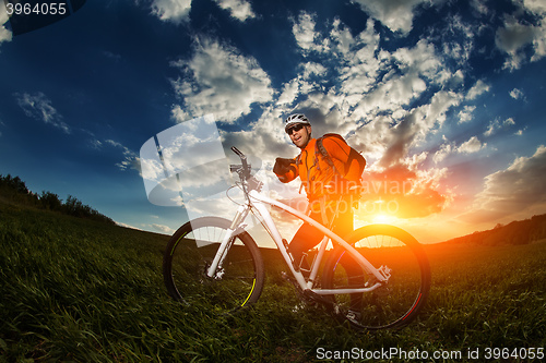
<instances>
[{"instance_id":1,"label":"large broken white cloud mass directly above the man's helmet","mask_svg":"<svg viewBox=\"0 0 546 363\"><path fill-rule=\"evenodd\" d=\"M292 92L289 99L299 100L295 108L317 110L317 116L322 120L319 121L319 132L327 132L325 128L322 130L322 125L331 126L335 124L333 120L340 121L337 126L341 126L342 133L358 129L359 122L370 125L397 124L410 113L407 106L418 99L430 85L442 85L462 76L460 71L452 73L443 66L442 56L426 39L413 47L399 48L392 53L380 49L379 35L375 32L371 20L356 36L337 19L329 32L320 33L316 31L313 15L304 12L294 24L293 33L305 60L319 58L321 64L329 65L321 71L340 81L334 87L322 87L321 80L313 78L311 84L306 84L304 74L285 88ZM307 70L306 66L304 69ZM307 99L305 90L308 90ZM424 135L432 125L443 122L444 112L460 101L461 97L449 90L432 94L428 105L423 99L423 105L417 106L415 114L419 119L415 122L419 134ZM377 126L384 131L383 125ZM358 136L366 138L365 132L366 129L363 129Z\"/></svg>"}]
</instances>

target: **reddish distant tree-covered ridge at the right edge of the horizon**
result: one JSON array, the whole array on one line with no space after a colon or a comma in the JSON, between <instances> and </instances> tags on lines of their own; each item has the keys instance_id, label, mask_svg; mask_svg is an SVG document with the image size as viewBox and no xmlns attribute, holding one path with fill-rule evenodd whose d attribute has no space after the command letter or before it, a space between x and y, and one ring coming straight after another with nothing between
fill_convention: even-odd
<instances>
[{"instance_id":1,"label":"reddish distant tree-covered ridge at the right edge of the horizon","mask_svg":"<svg viewBox=\"0 0 546 363\"><path fill-rule=\"evenodd\" d=\"M512 221L506 226L498 223L494 229L474 232L449 242L483 245L526 244L546 239L546 215Z\"/></svg>"}]
</instances>

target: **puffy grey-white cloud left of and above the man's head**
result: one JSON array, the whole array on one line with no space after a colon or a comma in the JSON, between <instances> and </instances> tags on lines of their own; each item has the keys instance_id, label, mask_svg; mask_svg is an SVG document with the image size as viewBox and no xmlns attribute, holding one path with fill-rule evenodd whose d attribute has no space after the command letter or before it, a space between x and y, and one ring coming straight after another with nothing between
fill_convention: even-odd
<instances>
[{"instance_id":1,"label":"puffy grey-white cloud left of and above the man's head","mask_svg":"<svg viewBox=\"0 0 546 363\"><path fill-rule=\"evenodd\" d=\"M175 108L178 121L214 113L218 121L234 122L265 104L274 94L269 75L252 57L210 38L195 40L193 56L171 63L182 76L173 81L183 105Z\"/></svg>"}]
</instances>

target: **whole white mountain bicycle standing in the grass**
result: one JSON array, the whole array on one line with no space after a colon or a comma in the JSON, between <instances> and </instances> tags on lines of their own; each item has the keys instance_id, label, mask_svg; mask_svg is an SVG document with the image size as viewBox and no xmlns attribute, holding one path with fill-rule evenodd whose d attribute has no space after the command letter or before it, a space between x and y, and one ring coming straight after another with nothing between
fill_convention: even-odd
<instances>
[{"instance_id":1,"label":"whole white mountain bicycle standing in the grass","mask_svg":"<svg viewBox=\"0 0 546 363\"><path fill-rule=\"evenodd\" d=\"M288 279L307 301L322 304L358 329L400 327L415 318L430 289L428 259L415 238L393 226L369 225L342 239L307 215L261 194L262 183L251 177L246 156L235 147L232 150L241 160L230 170L239 176L245 203L232 220L197 218L173 234L163 274L175 300L225 313L259 299L264 285L263 259L244 223L253 213L286 262L292 273ZM309 270L293 259L266 205L324 233ZM334 249L327 251L329 241Z\"/></svg>"}]
</instances>

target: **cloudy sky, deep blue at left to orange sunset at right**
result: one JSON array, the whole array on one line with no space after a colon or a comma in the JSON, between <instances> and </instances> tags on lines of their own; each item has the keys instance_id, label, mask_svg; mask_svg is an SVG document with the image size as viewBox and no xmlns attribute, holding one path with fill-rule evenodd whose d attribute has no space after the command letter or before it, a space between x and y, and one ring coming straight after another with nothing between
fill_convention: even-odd
<instances>
[{"instance_id":1,"label":"cloudy sky, deep blue at left to orange sunset at right","mask_svg":"<svg viewBox=\"0 0 546 363\"><path fill-rule=\"evenodd\" d=\"M34 192L173 233L188 208L149 201L142 147L212 117L232 161L301 199L272 173L298 111L365 156L357 226L434 243L546 213L543 0L81 3L23 34L0 4L0 174Z\"/></svg>"}]
</instances>

